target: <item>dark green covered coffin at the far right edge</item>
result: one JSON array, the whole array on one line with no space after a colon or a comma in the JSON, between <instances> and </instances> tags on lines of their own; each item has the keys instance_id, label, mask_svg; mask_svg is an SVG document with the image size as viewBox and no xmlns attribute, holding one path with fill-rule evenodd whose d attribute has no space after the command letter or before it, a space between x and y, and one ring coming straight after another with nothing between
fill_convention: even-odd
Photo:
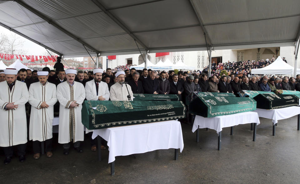
<instances>
[{"instance_id":1,"label":"dark green covered coffin at the far right edge","mask_svg":"<svg viewBox=\"0 0 300 184\"><path fill-rule=\"evenodd\" d=\"M296 95L259 94L254 97L258 109L279 109L299 105Z\"/></svg>"}]
</instances>

